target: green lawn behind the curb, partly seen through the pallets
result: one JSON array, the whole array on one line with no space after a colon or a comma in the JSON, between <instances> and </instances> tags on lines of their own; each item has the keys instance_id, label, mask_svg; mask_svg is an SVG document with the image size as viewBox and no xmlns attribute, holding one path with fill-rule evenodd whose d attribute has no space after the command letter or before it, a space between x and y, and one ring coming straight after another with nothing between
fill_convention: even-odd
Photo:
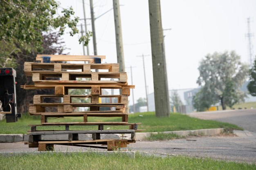
<instances>
[{"instance_id":1,"label":"green lawn behind the curb, partly seen through the pallets","mask_svg":"<svg viewBox=\"0 0 256 170\"><path fill-rule=\"evenodd\" d=\"M69 117L69 118L51 118L49 121L63 122L63 121L82 121L82 117ZM100 118L89 117L88 121L121 121L121 118ZM164 132L175 130L197 130L208 128L225 128L228 130L243 130L233 124L222 123L219 121L202 120L180 113L171 113L170 117L155 117L154 112L135 113L129 115L129 123L139 123L138 129L146 129L143 132ZM40 117L29 116L23 114L22 118L16 123L6 123L5 120L0 121L0 134L25 134L27 130L30 130L29 124L40 124ZM104 129L128 129L128 126L104 126ZM53 127L45 126L38 127L39 130L65 130L65 126ZM70 126L70 130L94 130L97 126Z\"/></svg>"}]
</instances>

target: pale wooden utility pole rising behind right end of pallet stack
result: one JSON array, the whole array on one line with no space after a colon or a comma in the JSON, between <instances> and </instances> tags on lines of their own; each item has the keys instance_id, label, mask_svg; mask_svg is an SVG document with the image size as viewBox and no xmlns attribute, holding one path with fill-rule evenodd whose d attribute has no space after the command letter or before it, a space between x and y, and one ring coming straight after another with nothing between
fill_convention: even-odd
<instances>
[{"instance_id":1,"label":"pale wooden utility pole rising behind right end of pallet stack","mask_svg":"<svg viewBox=\"0 0 256 170\"><path fill-rule=\"evenodd\" d=\"M117 45L117 62L119 63L119 71L125 72L124 66L124 48L121 27L121 15L119 9L119 0L113 0L114 19L115 19L115 32L116 32L116 45Z\"/></svg>"}]
</instances>

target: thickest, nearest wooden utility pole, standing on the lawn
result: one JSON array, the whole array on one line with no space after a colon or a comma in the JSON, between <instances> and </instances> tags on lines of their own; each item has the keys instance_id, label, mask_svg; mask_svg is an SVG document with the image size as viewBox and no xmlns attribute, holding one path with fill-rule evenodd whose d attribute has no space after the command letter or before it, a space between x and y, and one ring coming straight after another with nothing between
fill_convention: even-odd
<instances>
[{"instance_id":1,"label":"thickest, nearest wooden utility pole, standing on the lawn","mask_svg":"<svg viewBox=\"0 0 256 170\"><path fill-rule=\"evenodd\" d=\"M155 114L157 117L169 117L170 99L164 55L164 36L160 0L148 0L148 6L154 78Z\"/></svg>"}]
</instances>

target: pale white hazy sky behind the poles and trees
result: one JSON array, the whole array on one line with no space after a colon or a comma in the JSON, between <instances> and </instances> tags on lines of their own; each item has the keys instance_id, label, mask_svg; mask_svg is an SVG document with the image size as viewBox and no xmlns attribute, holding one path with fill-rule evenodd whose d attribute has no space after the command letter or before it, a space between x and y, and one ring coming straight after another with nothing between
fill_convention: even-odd
<instances>
[{"instance_id":1,"label":"pale white hazy sky behind the poles and trees","mask_svg":"<svg viewBox=\"0 0 256 170\"><path fill-rule=\"evenodd\" d=\"M60 2L64 8L72 6L75 15L83 18L82 0ZM120 12L125 65L135 67L132 73L136 101L139 97L146 97L142 58L137 55L150 55L145 57L146 81L148 93L154 91L148 0L120 0L120 4L124 5L120 7ZM112 6L112 0L94 0L95 17ZM164 31L169 90L198 87L199 62L207 53L235 50L241 60L247 62L247 18L252 18L251 32L254 32L255 7L255 0L161 0L163 29L172 29ZM85 11L86 17L90 18L89 0L85 0ZM90 24L90 20L87 21ZM97 19L95 28L98 55L106 55L104 62L117 62L113 11ZM88 30L92 30L91 24ZM70 37L65 34L63 40L69 48L66 52L83 55L78 35ZM252 42L255 44L254 38ZM93 55L92 40L89 47L90 55ZM131 84L130 68L126 68L126 72ZM129 100L131 102L132 98Z\"/></svg>"}]
</instances>

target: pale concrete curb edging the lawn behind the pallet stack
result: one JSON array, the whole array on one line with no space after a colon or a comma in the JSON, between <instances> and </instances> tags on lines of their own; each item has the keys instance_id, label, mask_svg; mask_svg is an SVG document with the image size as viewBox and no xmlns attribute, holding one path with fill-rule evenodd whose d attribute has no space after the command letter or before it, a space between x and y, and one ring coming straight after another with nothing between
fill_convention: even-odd
<instances>
[{"instance_id":1,"label":"pale concrete curb edging the lawn behind the pallet stack","mask_svg":"<svg viewBox=\"0 0 256 170\"><path fill-rule=\"evenodd\" d=\"M214 136L224 132L224 128L216 128L216 129L200 129L200 130L181 130L181 131L169 131L169 132L161 132L161 133L174 133L180 136L189 136L189 135L203 135L203 136ZM136 133L136 140L143 140L146 137L150 137L150 134L157 134L158 132L144 132L144 133ZM104 136L103 139L130 139L130 134L126 134L124 136L122 134L108 134L108 136ZM55 135L56 136L56 135ZM84 136L84 135L82 135ZM11 142L20 142L20 141L28 141L29 135L26 134L0 134L0 142L2 143L11 143ZM85 138L85 137L83 137ZM47 140L47 138L45 138ZM60 139L61 140L61 139ZM64 139L62 139L64 140ZM82 139L79 139L82 140ZM88 140L88 139L86 139Z\"/></svg>"}]
</instances>

